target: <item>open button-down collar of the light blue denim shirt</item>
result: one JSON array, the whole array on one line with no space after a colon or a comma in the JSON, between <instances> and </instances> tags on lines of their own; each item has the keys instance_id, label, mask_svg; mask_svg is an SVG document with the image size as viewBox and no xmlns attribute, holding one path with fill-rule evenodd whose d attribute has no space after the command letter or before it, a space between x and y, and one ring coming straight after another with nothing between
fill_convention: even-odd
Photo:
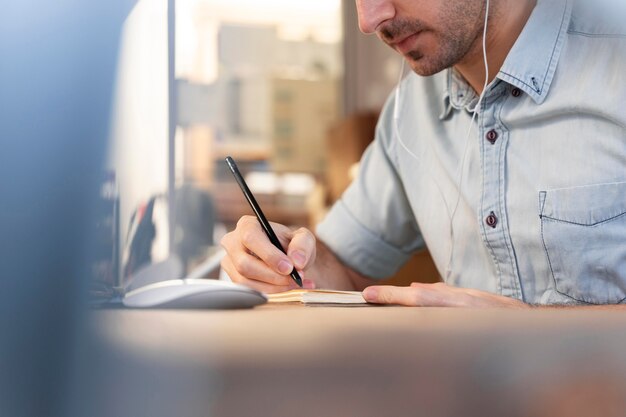
<instances>
[{"instance_id":1,"label":"open button-down collar of the light blue denim shirt","mask_svg":"<svg viewBox=\"0 0 626 417\"><path fill-rule=\"evenodd\" d=\"M571 0L538 0L497 78L518 87L537 104L543 103L556 72L571 13ZM449 116L452 107L467 108L476 98L457 71L448 69L441 117Z\"/></svg>"}]
</instances>

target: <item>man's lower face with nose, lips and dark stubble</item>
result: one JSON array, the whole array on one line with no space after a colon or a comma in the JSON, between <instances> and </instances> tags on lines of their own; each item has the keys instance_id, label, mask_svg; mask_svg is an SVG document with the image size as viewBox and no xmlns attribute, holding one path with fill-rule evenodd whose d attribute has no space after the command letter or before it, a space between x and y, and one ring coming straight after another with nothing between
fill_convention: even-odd
<instances>
[{"instance_id":1,"label":"man's lower face with nose, lips and dark stubble","mask_svg":"<svg viewBox=\"0 0 626 417\"><path fill-rule=\"evenodd\" d=\"M356 0L359 27L433 75L463 62L482 39L484 0Z\"/></svg>"}]
</instances>

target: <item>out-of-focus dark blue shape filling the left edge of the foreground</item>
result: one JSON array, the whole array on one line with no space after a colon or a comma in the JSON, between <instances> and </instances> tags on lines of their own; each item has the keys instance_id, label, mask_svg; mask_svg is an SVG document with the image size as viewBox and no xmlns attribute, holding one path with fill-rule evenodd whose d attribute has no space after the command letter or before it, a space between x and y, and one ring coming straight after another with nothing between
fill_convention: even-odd
<instances>
[{"instance_id":1,"label":"out-of-focus dark blue shape filling the left edge of the foreground","mask_svg":"<svg viewBox=\"0 0 626 417\"><path fill-rule=\"evenodd\" d=\"M119 33L132 5L0 5L2 416L71 413Z\"/></svg>"}]
</instances>

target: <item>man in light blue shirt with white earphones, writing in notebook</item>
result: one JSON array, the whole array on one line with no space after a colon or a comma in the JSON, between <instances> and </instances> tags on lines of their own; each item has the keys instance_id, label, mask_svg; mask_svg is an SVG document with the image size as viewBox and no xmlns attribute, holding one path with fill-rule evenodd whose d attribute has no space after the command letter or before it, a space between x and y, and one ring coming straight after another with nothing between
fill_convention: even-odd
<instances>
[{"instance_id":1,"label":"man in light blue shirt with white earphones, writing in notebook","mask_svg":"<svg viewBox=\"0 0 626 417\"><path fill-rule=\"evenodd\" d=\"M626 31L585 3L357 0L413 73L317 238L274 225L284 255L244 217L224 270L276 292L295 266L306 288L409 306L624 303ZM445 284L373 285L424 245Z\"/></svg>"}]
</instances>

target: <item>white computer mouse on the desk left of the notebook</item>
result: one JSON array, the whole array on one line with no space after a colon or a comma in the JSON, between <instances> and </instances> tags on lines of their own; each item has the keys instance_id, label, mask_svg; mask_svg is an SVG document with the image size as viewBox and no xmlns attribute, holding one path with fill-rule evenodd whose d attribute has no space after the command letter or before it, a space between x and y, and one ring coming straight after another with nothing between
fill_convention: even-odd
<instances>
[{"instance_id":1,"label":"white computer mouse on the desk left of the notebook","mask_svg":"<svg viewBox=\"0 0 626 417\"><path fill-rule=\"evenodd\" d=\"M260 292L214 279L172 279L129 291L122 302L133 308L235 309L267 302Z\"/></svg>"}]
</instances>

